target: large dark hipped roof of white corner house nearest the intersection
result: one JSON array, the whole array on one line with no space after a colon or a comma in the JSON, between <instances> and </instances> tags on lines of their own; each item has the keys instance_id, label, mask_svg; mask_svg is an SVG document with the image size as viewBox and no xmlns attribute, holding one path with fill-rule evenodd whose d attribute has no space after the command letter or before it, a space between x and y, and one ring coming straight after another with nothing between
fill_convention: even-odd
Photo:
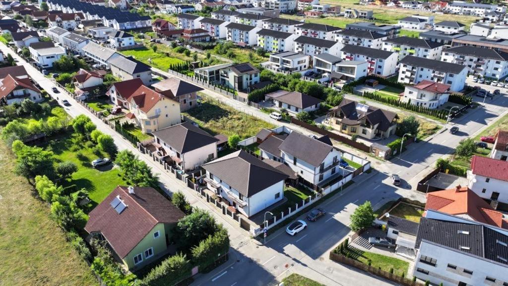
<instances>
[{"instance_id":1,"label":"large dark hipped roof of white corner house nearest the intersection","mask_svg":"<svg viewBox=\"0 0 508 286\"><path fill-rule=\"evenodd\" d=\"M202 167L246 197L289 177L243 150L220 157Z\"/></svg>"}]
</instances>

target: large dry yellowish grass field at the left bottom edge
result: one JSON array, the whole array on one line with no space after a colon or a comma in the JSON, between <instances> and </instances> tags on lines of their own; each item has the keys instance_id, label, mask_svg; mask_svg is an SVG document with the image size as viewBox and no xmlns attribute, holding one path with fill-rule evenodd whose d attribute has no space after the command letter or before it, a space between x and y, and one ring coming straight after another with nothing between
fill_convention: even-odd
<instances>
[{"instance_id":1,"label":"large dry yellowish grass field at the left bottom edge","mask_svg":"<svg viewBox=\"0 0 508 286\"><path fill-rule=\"evenodd\" d=\"M98 285L0 140L0 285Z\"/></svg>"}]
</instances>

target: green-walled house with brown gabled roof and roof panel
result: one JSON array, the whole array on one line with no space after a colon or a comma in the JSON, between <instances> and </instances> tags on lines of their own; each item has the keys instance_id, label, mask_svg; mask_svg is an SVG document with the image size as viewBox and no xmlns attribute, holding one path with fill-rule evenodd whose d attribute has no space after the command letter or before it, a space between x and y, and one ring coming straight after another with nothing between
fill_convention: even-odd
<instances>
[{"instance_id":1,"label":"green-walled house with brown gabled roof and roof panel","mask_svg":"<svg viewBox=\"0 0 508 286\"><path fill-rule=\"evenodd\" d=\"M169 253L173 230L185 214L154 188L117 186L88 216L85 231L105 240L135 270Z\"/></svg>"}]
</instances>

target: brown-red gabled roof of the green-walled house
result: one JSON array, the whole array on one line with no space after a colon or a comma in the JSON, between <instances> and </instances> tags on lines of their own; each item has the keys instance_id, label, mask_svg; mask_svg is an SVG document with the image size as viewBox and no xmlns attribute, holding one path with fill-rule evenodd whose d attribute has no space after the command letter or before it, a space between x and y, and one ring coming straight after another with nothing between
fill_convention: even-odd
<instances>
[{"instance_id":1,"label":"brown-red gabled roof of the green-walled house","mask_svg":"<svg viewBox=\"0 0 508 286\"><path fill-rule=\"evenodd\" d=\"M119 198L126 208L118 213L111 203ZM176 223L185 215L150 187L116 187L102 203L89 213L85 231L100 232L113 250L124 258L158 223ZM164 238L163 238L164 239Z\"/></svg>"}]
</instances>

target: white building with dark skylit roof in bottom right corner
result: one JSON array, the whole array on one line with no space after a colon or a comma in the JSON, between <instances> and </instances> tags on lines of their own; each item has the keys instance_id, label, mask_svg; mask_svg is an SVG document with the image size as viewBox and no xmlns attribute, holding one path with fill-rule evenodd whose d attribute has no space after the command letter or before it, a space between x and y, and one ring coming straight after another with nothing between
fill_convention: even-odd
<instances>
[{"instance_id":1,"label":"white building with dark skylit roof in bottom right corner","mask_svg":"<svg viewBox=\"0 0 508 286\"><path fill-rule=\"evenodd\" d=\"M439 213L439 217L446 216ZM460 217L447 219L420 219L412 274L443 286L506 283L506 231Z\"/></svg>"}]
</instances>

